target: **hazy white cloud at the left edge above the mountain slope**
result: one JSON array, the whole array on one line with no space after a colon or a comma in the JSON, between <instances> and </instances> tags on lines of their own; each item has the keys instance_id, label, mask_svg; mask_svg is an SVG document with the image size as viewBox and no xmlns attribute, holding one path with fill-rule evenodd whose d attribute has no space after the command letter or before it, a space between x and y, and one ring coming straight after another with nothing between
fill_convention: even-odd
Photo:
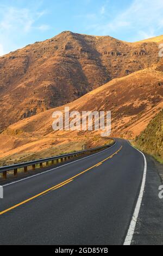
<instances>
[{"instance_id":1,"label":"hazy white cloud at the left edge above the mountain slope","mask_svg":"<svg viewBox=\"0 0 163 256\"><path fill-rule=\"evenodd\" d=\"M47 30L47 25L35 26L35 23L45 14L45 10L37 11L34 8L21 9L0 5L0 53L8 53L23 47L23 39L34 30Z\"/></svg>"}]
</instances>

